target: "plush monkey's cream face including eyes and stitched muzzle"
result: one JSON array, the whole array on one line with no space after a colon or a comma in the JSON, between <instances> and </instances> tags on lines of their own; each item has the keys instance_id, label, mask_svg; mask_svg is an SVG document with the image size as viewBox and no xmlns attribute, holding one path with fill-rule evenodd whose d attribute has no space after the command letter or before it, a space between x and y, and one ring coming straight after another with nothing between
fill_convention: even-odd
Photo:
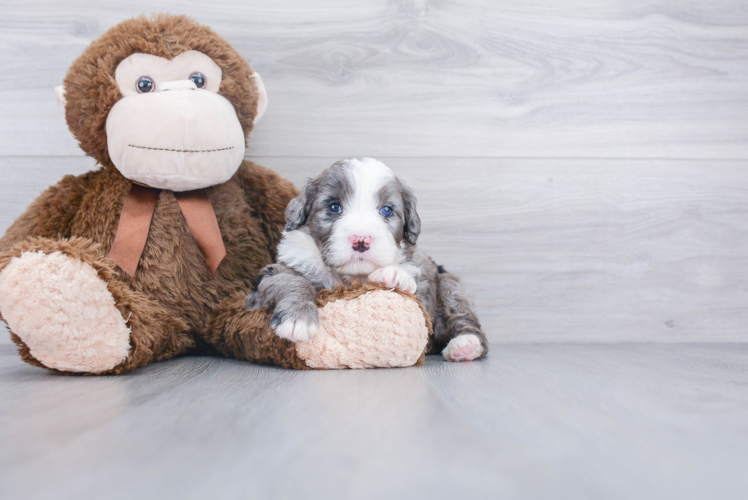
<instances>
[{"instance_id":1,"label":"plush monkey's cream face including eyes and stitched muzzle","mask_svg":"<svg viewBox=\"0 0 748 500\"><path fill-rule=\"evenodd\" d=\"M231 178L244 157L244 131L234 106L217 93L221 75L213 59L194 50L171 60L136 53L119 63L123 97L109 112L106 137L122 175L172 191Z\"/></svg>"}]
</instances>

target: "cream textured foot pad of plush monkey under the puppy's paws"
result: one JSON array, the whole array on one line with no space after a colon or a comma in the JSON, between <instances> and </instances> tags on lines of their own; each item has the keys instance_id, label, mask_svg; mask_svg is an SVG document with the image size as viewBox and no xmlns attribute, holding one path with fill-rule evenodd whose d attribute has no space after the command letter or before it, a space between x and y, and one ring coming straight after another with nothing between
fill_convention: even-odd
<instances>
[{"instance_id":1,"label":"cream textured foot pad of plush monkey under the puppy's paws","mask_svg":"<svg viewBox=\"0 0 748 500\"><path fill-rule=\"evenodd\" d=\"M426 348L428 327L418 303L375 290L319 309L320 328L297 355L312 368L412 366Z\"/></svg>"}]
</instances>

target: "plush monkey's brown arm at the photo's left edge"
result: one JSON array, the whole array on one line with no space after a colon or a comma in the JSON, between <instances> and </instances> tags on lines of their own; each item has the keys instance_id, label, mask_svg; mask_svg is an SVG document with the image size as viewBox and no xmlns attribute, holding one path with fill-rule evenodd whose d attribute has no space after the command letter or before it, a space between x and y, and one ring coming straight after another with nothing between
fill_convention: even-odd
<instances>
[{"instance_id":1,"label":"plush monkey's brown arm at the photo's left edge","mask_svg":"<svg viewBox=\"0 0 748 500\"><path fill-rule=\"evenodd\" d=\"M86 176L67 175L44 191L0 238L0 252L35 237L68 238L73 218L88 189Z\"/></svg>"}]
</instances>

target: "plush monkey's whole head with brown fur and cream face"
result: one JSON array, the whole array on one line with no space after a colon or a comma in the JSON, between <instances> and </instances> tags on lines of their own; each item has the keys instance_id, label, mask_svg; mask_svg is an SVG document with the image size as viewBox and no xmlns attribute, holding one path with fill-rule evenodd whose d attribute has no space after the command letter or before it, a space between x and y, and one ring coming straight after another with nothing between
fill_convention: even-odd
<instances>
[{"instance_id":1,"label":"plush monkey's whole head with brown fur and cream face","mask_svg":"<svg viewBox=\"0 0 748 500\"><path fill-rule=\"evenodd\" d=\"M86 154L173 191L229 180L267 106L259 75L226 40L171 15L114 26L55 90Z\"/></svg>"}]
</instances>

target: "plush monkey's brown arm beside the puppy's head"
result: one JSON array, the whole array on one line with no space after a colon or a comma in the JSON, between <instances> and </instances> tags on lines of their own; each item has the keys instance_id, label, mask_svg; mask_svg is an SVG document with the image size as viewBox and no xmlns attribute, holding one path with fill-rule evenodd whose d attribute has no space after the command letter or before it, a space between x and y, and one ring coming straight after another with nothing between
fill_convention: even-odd
<instances>
[{"instance_id":1,"label":"plush monkey's brown arm beside the puppy's head","mask_svg":"<svg viewBox=\"0 0 748 500\"><path fill-rule=\"evenodd\" d=\"M245 160L236 178L244 189L244 197L262 220L273 260L276 247L286 226L286 205L298 194L294 185L272 170Z\"/></svg>"}]
</instances>

